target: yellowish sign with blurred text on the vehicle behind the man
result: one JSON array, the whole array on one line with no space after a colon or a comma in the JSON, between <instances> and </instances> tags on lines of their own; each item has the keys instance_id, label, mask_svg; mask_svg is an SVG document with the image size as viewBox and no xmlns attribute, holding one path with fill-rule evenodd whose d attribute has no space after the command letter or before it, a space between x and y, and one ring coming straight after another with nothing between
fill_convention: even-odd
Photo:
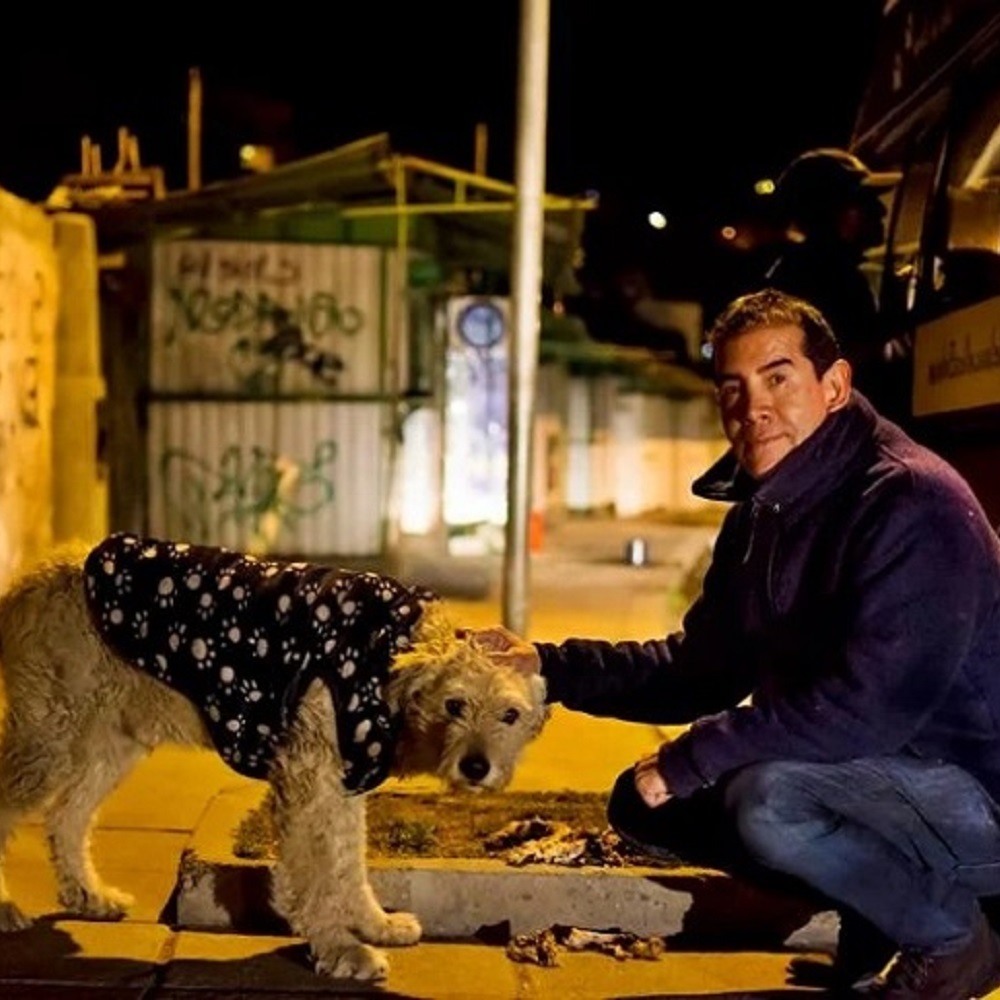
<instances>
[{"instance_id":1,"label":"yellowish sign with blurred text on the vehicle behind the man","mask_svg":"<svg viewBox=\"0 0 1000 1000\"><path fill-rule=\"evenodd\" d=\"M1000 297L917 327L913 413L1000 403Z\"/></svg>"}]
</instances>

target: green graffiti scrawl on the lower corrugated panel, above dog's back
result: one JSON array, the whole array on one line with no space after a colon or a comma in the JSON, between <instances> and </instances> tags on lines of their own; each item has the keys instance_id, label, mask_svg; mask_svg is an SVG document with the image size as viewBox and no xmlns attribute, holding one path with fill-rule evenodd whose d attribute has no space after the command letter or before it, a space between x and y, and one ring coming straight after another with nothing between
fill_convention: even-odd
<instances>
[{"instance_id":1,"label":"green graffiti scrawl on the lower corrugated panel, above dog's back","mask_svg":"<svg viewBox=\"0 0 1000 1000\"><path fill-rule=\"evenodd\" d=\"M233 444L217 463L170 447L159 460L171 525L192 538L215 538L234 526L266 549L334 502L335 441L321 440L296 462L260 445ZM176 530L176 529L175 529Z\"/></svg>"}]
</instances>

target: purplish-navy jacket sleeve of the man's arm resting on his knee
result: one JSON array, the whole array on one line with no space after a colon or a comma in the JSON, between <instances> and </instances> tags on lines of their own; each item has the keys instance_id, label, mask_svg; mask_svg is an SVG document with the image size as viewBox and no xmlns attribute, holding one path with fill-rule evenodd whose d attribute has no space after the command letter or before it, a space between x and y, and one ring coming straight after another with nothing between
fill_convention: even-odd
<instances>
[{"instance_id":1,"label":"purplish-navy jacket sleeve of the man's arm resting on his knee","mask_svg":"<svg viewBox=\"0 0 1000 1000\"><path fill-rule=\"evenodd\" d=\"M688 795L766 760L907 748L953 685L968 683L959 674L977 623L995 614L996 557L981 524L964 495L943 497L933 484L867 507L846 550L843 643L828 651L829 669L796 691L699 719L661 747L670 790Z\"/></svg>"}]
</instances>

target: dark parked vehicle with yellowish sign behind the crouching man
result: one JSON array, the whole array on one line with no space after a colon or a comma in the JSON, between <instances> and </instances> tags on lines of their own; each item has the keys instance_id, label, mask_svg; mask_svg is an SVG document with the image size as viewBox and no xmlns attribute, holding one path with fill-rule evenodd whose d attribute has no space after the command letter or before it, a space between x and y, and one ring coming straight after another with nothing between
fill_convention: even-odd
<instances>
[{"instance_id":1,"label":"dark parked vehicle with yellowish sign behind the crouching man","mask_svg":"<svg viewBox=\"0 0 1000 1000\"><path fill-rule=\"evenodd\" d=\"M1000 526L1000 4L886 0L851 149L898 170L870 262L911 432Z\"/></svg>"}]
</instances>

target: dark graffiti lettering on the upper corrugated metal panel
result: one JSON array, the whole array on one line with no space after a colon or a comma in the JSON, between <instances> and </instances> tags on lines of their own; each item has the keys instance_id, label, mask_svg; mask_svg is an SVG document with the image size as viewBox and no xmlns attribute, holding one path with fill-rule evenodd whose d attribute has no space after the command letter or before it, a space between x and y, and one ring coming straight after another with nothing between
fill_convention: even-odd
<instances>
[{"instance_id":1,"label":"dark graffiti lettering on the upper corrugated metal panel","mask_svg":"<svg viewBox=\"0 0 1000 1000\"><path fill-rule=\"evenodd\" d=\"M213 343L236 387L250 395L277 391L289 367L337 386L347 368L338 348L365 329L366 317L323 287L327 271L307 266L317 248L188 242L168 249L158 274L163 348Z\"/></svg>"}]
</instances>

